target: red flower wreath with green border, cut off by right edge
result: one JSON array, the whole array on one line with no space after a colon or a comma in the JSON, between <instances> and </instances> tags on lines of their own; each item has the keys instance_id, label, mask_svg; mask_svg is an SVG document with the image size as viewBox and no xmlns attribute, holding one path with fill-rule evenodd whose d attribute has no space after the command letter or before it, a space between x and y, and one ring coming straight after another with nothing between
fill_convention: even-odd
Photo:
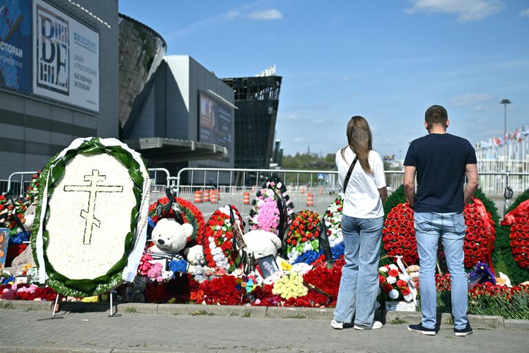
<instances>
[{"instance_id":1,"label":"red flower wreath with green border, cut off by right edge","mask_svg":"<svg viewBox=\"0 0 529 353\"><path fill-rule=\"evenodd\" d=\"M517 197L500 224L496 252L512 281L529 281L529 190Z\"/></svg>"}]
</instances>

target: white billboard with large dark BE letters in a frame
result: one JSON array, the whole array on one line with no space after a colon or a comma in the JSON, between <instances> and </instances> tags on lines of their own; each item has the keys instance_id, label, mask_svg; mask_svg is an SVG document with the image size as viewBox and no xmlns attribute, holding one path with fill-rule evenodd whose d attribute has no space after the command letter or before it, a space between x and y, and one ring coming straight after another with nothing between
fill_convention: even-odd
<instances>
[{"instance_id":1,"label":"white billboard with large dark BE letters in a frame","mask_svg":"<svg viewBox=\"0 0 529 353\"><path fill-rule=\"evenodd\" d=\"M33 26L33 92L98 111L98 32L42 0L33 1Z\"/></svg>"}]
</instances>

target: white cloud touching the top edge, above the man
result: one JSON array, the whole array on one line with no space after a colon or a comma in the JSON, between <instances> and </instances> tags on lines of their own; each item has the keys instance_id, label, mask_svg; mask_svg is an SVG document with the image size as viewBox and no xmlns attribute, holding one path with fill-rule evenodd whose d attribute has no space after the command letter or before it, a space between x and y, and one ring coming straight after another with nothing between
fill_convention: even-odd
<instances>
[{"instance_id":1,"label":"white cloud touching the top edge, above the man","mask_svg":"<svg viewBox=\"0 0 529 353\"><path fill-rule=\"evenodd\" d=\"M501 0L408 0L408 14L415 12L446 12L456 14L461 22L479 21L504 8Z\"/></svg>"}]
</instances>

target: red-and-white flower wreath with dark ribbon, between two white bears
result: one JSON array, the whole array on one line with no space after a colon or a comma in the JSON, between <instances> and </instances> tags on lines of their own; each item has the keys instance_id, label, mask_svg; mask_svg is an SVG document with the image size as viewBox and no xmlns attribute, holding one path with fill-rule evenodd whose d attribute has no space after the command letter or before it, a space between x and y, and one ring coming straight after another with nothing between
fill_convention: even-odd
<instances>
[{"instance_id":1,"label":"red-and-white flower wreath with dark ribbon, between two white bears","mask_svg":"<svg viewBox=\"0 0 529 353\"><path fill-rule=\"evenodd\" d=\"M211 215L206 224L204 254L210 268L220 267L228 272L234 271L241 263L236 248L235 234L245 228L244 221L235 206L231 206L235 224L231 223L230 206L225 205Z\"/></svg>"}]
</instances>

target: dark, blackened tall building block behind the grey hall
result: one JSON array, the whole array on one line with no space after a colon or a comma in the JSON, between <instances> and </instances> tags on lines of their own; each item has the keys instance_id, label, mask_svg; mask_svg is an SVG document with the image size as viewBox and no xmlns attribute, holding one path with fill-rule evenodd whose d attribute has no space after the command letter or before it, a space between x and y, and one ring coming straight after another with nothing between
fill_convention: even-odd
<instances>
[{"instance_id":1,"label":"dark, blackened tall building block behind the grey hall","mask_svg":"<svg viewBox=\"0 0 529 353\"><path fill-rule=\"evenodd\" d=\"M269 168L280 76L222 79L235 92L235 168Z\"/></svg>"}]
</instances>

